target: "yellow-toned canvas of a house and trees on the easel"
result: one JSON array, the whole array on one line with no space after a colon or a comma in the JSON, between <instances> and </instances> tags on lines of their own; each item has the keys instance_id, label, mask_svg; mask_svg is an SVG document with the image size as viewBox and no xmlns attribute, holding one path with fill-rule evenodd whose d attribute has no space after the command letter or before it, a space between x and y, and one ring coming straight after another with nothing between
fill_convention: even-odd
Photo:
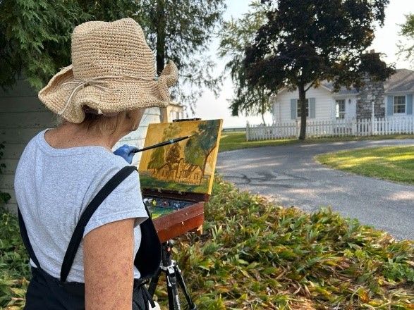
<instances>
[{"instance_id":1,"label":"yellow-toned canvas of a house and trees on the easel","mask_svg":"<svg viewBox=\"0 0 414 310\"><path fill-rule=\"evenodd\" d=\"M177 137L188 139L144 151L142 188L211 194L222 119L150 124L144 147Z\"/></svg>"}]
</instances>

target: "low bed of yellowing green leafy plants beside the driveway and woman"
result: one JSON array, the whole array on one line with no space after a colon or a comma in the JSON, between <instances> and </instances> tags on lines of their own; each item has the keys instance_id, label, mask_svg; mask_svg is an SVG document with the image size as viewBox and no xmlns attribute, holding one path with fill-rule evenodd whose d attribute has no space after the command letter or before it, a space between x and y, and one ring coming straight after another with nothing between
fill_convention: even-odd
<instances>
[{"instance_id":1,"label":"low bed of yellowing green leafy plants beside the driveway and woman","mask_svg":"<svg viewBox=\"0 0 414 310\"><path fill-rule=\"evenodd\" d=\"M413 309L413 241L331 209L276 206L218 176L205 218L201 236L173 248L201 310ZM20 309L28 260L16 218L4 211L0 254L0 307ZM165 287L157 294L166 302Z\"/></svg>"}]
</instances>

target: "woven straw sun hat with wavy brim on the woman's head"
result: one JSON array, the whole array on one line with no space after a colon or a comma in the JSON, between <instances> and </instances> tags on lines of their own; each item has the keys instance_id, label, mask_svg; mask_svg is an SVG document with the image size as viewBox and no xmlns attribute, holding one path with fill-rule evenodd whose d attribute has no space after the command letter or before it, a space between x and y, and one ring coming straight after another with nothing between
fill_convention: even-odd
<instances>
[{"instance_id":1,"label":"woven straw sun hat with wavy brim on the woman's head","mask_svg":"<svg viewBox=\"0 0 414 310\"><path fill-rule=\"evenodd\" d=\"M157 77L154 55L132 18L91 21L72 33L72 64L62 68L39 92L48 109L71 123L82 123L83 106L109 115L170 103L176 65L169 61Z\"/></svg>"}]
</instances>

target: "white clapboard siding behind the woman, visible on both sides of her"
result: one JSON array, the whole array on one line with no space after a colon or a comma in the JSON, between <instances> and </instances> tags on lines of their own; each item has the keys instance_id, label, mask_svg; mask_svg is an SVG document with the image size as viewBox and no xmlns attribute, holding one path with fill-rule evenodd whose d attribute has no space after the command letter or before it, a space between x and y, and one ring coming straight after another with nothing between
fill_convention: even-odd
<instances>
[{"instance_id":1,"label":"white clapboard siding behind the woman, visible on both sides of her","mask_svg":"<svg viewBox=\"0 0 414 310\"><path fill-rule=\"evenodd\" d=\"M159 123L159 116L159 108L146 109L138 130L123 137L114 149L124 143L142 147L148 124ZM54 124L56 124L54 114L47 111L37 99L37 93L32 90L28 82L18 80L8 92L0 88L0 141L6 142L1 160L6 164L6 169L5 173L0 175L0 191L11 194L11 200L7 205L10 209L16 210L17 206L13 183L20 154L37 132L54 127ZM139 160L140 153L134 157L133 163L138 164Z\"/></svg>"}]
</instances>

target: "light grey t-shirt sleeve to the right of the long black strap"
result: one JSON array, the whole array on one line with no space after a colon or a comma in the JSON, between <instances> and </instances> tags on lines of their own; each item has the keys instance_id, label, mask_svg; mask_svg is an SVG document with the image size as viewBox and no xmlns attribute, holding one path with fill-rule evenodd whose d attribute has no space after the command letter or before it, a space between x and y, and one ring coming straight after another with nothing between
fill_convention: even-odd
<instances>
[{"instance_id":1,"label":"light grey t-shirt sleeve to the right of the long black strap","mask_svg":"<svg viewBox=\"0 0 414 310\"><path fill-rule=\"evenodd\" d=\"M98 206L85 227L83 237L99 226L126 218L135 218L134 227L148 218L137 171L128 175Z\"/></svg>"}]
</instances>

